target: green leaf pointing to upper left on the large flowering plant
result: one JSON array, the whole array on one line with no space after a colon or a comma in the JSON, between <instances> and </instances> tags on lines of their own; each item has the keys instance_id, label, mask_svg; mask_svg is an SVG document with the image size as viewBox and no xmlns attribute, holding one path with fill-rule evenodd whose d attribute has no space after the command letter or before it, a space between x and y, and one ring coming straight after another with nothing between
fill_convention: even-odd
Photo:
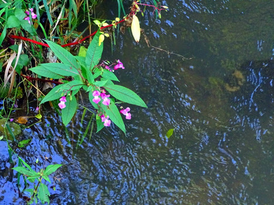
<instances>
[{"instance_id":1,"label":"green leaf pointing to upper left on the large flowering plant","mask_svg":"<svg viewBox=\"0 0 274 205\"><path fill-rule=\"evenodd\" d=\"M47 44L49 44L49 47L53 51L53 53L62 61L62 63L69 65L73 68L78 67L77 61L75 57L69 53L69 51L66 51L66 49L62 48L60 45L55 44L54 42L51 42L49 40L46 40Z\"/></svg>"}]
</instances>

